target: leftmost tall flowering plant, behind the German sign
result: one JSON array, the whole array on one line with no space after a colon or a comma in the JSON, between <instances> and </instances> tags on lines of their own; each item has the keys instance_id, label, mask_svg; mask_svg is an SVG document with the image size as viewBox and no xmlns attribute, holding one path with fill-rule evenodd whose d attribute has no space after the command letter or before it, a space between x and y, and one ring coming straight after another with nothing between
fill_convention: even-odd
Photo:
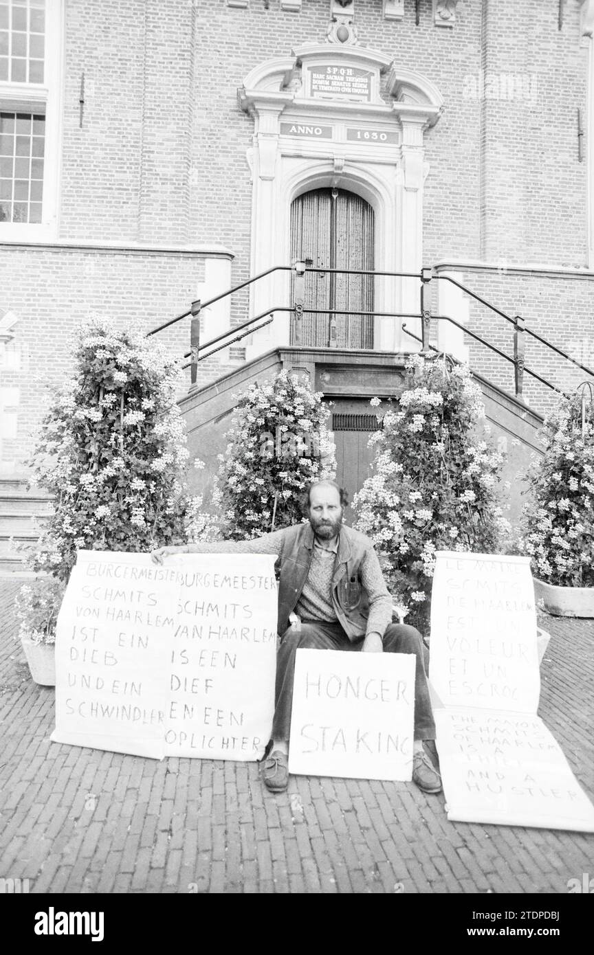
<instances>
[{"instance_id":1,"label":"leftmost tall flowering plant, behind the German sign","mask_svg":"<svg viewBox=\"0 0 594 955\"><path fill-rule=\"evenodd\" d=\"M141 329L101 319L82 330L30 462L32 483L54 497L33 570L66 581L78 549L145 551L183 536L178 384L177 365Z\"/></svg>"}]
</instances>

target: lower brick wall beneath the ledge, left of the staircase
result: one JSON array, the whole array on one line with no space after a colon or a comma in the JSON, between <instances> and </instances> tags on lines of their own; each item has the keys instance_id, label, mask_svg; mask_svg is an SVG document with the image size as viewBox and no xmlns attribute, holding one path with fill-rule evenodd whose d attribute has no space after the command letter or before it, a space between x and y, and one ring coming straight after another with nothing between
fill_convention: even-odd
<instances>
[{"instance_id":1,"label":"lower brick wall beneath the ledge, left of the staircase","mask_svg":"<svg viewBox=\"0 0 594 955\"><path fill-rule=\"evenodd\" d=\"M2 460L22 463L31 450L47 389L67 376L75 333L87 317L109 315L122 328L137 317L147 331L153 329L188 308L203 265L202 258L189 254L4 247L0 288L5 308L18 316L18 323L0 386L19 388L20 394L18 434L3 441ZM179 357L189 350L189 319L159 337ZM201 381L225 368L213 359L202 362Z\"/></svg>"}]
</instances>

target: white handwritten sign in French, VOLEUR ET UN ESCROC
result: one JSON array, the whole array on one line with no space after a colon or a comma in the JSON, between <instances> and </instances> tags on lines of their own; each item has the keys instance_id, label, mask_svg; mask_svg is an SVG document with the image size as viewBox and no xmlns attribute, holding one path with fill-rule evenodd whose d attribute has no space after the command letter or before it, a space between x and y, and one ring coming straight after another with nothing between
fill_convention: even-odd
<instances>
[{"instance_id":1,"label":"white handwritten sign in French, VOLEUR ET UN ESCROC","mask_svg":"<svg viewBox=\"0 0 594 955\"><path fill-rule=\"evenodd\" d=\"M536 712L530 559L439 551L431 607L430 679L443 705Z\"/></svg>"}]
</instances>

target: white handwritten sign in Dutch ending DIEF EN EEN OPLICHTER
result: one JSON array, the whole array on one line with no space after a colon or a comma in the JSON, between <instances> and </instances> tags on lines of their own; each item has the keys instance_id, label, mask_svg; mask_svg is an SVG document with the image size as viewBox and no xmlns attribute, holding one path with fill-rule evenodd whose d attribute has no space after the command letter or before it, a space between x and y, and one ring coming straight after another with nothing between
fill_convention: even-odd
<instances>
[{"instance_id":1,"label":"white handwritten sign in Dutch ending DIEF EN EEN OPLICHTER","mask_svg":"<svg viewBox=\"0 0 594 955\"><path fill-rule=\"evenodd\" d=\"M179 560L178 558L176 560ZM165 715L165 753L261 759L276 675L277 588L268 554L183 562Z\"/></svg>"}]
</instances>

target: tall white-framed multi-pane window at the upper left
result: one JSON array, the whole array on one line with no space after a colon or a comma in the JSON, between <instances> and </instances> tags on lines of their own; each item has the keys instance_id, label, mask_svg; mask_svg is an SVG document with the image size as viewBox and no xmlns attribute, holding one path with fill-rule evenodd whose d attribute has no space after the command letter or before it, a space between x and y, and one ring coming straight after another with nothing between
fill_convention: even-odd
<instances>
[{"instance_id":1,"label":"tall white-framed multi-pane window at the upper left","mask_svg":"<svg viewBox=\"0 0 594 955\"><path fill-rule=\"evenodd\" d=\"M0 0L0 241L57 237L63 0Z\"/></svg>"}]
</instances>

